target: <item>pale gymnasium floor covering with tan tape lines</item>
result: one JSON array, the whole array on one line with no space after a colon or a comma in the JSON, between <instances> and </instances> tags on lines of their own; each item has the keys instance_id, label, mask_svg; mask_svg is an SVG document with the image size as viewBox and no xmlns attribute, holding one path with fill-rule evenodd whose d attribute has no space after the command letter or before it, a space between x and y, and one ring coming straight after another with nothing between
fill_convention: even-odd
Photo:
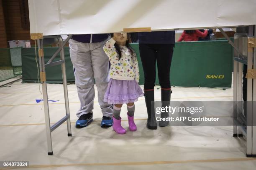
<instances>
[{"instance_id":1,"label":"pale gymnasium floor covering with tan tape lines","mask_svg":"<svg viewBox=\"0 0 256 170\"><path fill-rule=\"evenodd\" d=\"M48 84L51 122L64 115L63 87ZM143 88L143 87L141 87ZM35 170L253 170L256 158L246 158L244 140L233 138L231 126L169 126L146 128L144 98L136 102L138 130L125 135L112 128L100 128L101 112L97 88L94 121L86 128L75 128L79 100L75 85L68 85L72 137L67 124L52 133L54 155L47 155L44 110L38 84L18 80L0 87L0 160L29 161ZM171 100L233 100L233 89L172 87ZM160 100L160 89L155 88ZM128 128L126 107L122 125ZM2 168L0 168L2 169ZM18 169L18 168L14 168ZM20 168L24 169L24 168Z\"/></svg>"}]
</instances>

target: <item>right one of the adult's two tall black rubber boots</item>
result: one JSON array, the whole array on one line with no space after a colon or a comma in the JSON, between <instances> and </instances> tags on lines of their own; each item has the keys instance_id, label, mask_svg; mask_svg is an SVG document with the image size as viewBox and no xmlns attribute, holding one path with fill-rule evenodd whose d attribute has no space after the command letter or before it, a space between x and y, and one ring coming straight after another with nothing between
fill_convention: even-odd
<instances>
[{"instance_id":1,"label":"right one of the adult's two tall black rubber boots","mask_svg":"<svg viewBox=\"0 0 256 170\"><path fill-rule=\"evenodd\" d=\"M170 100L171 100L171 88L170 89L162 89L161 88L161 101L162 101L162 107L169 107ZM169 117L169 112L161 112L161 118L167 118ZM168 126L169 121L160 120L159 126Z\"/></svg>"}]
</instances>

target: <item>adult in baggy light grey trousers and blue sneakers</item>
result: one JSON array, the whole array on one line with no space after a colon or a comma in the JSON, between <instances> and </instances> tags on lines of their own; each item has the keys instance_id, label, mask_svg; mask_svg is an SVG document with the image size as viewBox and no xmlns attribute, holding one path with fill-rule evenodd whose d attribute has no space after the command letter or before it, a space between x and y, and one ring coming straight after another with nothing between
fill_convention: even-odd
<instances>
[{"instance_id":1,"label":"adult in baggy light grey trousers and blue sneakers","mask_svg":"<svg viewBox=\"0 0 256 170\"><path fill-rule=\"evenodd\" d=\"M80 100L77 111L77 128L86 127L92 122L93 100L95 97L94 80L98 90L98 102L102 111L101 127L113 125L113 106L103 101L108 87L109 59L103 51L108 34L73 35L69 40L70 58L74 66L75 83Z\"/></svg>"}]
</instances>

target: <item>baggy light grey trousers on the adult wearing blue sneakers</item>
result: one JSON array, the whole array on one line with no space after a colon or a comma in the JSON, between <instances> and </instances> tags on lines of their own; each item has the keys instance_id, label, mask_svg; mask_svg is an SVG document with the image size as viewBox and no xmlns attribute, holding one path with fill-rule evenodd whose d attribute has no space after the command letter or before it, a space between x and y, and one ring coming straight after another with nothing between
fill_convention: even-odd
<instances>
[{"instance_id":1,"label":"baggy light grey trousers on the adult wearing blue sneakers","mask_svg":"<svg viewBox=\"0 0 256 170\"><path fill-rule=\"evenodd\" d=\"M109 80L108 57L102 49L103 43L105 42L82 43L72 39L69 40L70 58L75 69L74 76L81 104L80 109L77 111L77 117L93 110L93 100L95 97L94 78L98 89L98 101L102 114L103 116L112 116L112 105L103 102Z\"/></svg>"}]
</instances>

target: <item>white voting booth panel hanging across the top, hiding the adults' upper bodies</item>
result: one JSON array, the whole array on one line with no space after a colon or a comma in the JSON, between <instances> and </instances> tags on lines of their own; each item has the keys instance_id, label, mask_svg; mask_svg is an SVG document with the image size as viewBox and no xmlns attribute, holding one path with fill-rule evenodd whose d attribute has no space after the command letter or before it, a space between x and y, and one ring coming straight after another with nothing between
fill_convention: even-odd
<instances>
[{"instance_id":1,"label":"white voting booth panel hanging across the top, hiding the adults' upper bodies","mask_svg":"<svg viewBox=\"0 0 256 170\"><path fill-rule=\"evenodd\" d=\"M28 0L43 35L221 28L256 24L255 0Z\"/></svg>"}]
</instances>

